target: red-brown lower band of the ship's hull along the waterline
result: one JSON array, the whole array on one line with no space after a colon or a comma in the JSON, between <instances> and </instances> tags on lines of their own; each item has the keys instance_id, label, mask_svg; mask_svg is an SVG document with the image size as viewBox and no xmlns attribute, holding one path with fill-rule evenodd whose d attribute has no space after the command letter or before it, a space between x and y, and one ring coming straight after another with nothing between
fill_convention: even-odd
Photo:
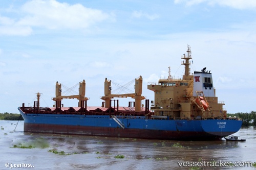
<instances>
[{"instance_id":1,"label":"red-brown lower band of the ship's hull along the waterline","mask_svg":"<svg viewBox=\"0 0 256 170\"><path fill-rule=\"evenodd\" d=\"M218 140L222 136L211 135L206 132L179 132L146 129L122 129L89 126L51 125L51 124L24 124L24 132L54 133L69 135L89 135L108 137L127 137L162 140Z\"/></svg>"}]
</instances>

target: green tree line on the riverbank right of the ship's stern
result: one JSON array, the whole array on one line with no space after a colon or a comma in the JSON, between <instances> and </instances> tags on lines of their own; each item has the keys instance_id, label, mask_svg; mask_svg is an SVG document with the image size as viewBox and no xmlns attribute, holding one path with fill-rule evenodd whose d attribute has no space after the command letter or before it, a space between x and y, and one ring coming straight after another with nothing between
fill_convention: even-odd
<instances>
[{"instance_id":1,"label":"green tree line on the riverbank right of the ship's stern","mask_svg":"<svg viewBox=\"0 0 256 170\"><path fill-rule=\"evenodd\" d=\"M227 117L234 117L236 116L237 118L242 119L243 124L242 126L248 127L248 126L253 126L256 127L256 112L255 111L251 111L250 113L234 113L234 114L230 114L227 113Z\"/></svg>"}]
</instances>

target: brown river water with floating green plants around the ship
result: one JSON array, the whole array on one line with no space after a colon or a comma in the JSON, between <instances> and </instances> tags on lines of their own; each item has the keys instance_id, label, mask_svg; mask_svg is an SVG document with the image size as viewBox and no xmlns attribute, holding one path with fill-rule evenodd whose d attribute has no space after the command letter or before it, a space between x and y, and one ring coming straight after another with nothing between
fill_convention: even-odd
<instances>
[{"instance_id":1,"label":"brown river water with floating green plants around the ship","mask_svg":"<svg viewBox=\"0 0 256 170\"><path fill-rule=\"evenodd\" d=\"M256 170L253 127L234 134L245 142L234 142L24 133L23 121L0 120L0 126L0 169Z\"/></svg>"}]
</instances>

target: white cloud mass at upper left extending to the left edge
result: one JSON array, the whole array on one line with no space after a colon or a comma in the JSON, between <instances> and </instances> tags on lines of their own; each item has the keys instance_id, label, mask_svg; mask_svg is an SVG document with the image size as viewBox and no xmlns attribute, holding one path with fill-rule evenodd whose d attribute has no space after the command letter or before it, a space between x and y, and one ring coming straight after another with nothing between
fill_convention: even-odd
<instances>
[{"instance_id":1,"label":"white cloud mass at upper left extending to the left edge","mask_svg":"<svg viewBox=\"0 0 256 170\"><path fill-rule=\"evenodd\" d=\"M24 4L21 18L0 15L0 35L28 36L33 27L47 29L85 29L103 20L115 21L113 14L80 4L70 5L55 0L32 0Z\"/></svg>"}]
</instances>

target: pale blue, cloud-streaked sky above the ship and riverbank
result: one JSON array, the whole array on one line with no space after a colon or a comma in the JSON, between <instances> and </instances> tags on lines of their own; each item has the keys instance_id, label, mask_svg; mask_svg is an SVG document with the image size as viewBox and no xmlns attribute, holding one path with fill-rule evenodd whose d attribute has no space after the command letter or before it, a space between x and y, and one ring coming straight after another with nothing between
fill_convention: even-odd
<instances>
[{"instance_id":1,"label":"pale blue, cloud-streaked sky above the ship and riverbank","mask_svg":"<svg viewBox=\"0 0 256 170\"><path fill-rule=\"evenodd\" d=\"M142 95L154 100L147 84L167 78L169 66L172 76L182 78L187 45L191 72L211 70L227 113L256 111L254 0L0 3L0 113L18 113L22 103L32 106L37 92L40 106L52 107L57 81L62 94L73 95L85 80L88 106L101 106L105 78L112 81L112 92L118 85L133 91L142 76ZM134 101L116 100L119 106Z\"/></svg>"}]
</instances>

